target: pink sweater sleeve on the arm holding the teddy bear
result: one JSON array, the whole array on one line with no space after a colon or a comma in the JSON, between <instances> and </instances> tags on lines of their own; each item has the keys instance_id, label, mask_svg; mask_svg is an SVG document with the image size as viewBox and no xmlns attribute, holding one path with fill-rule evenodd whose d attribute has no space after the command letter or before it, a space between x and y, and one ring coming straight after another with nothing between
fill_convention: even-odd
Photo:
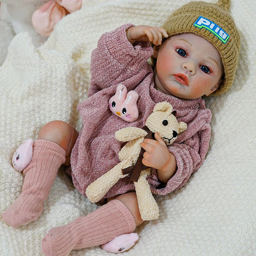
<instances>
[{"instance_id":1,"label":"pink sweater sleeve on the arm holding the teddy bear","mask_svg":"<svg viewBox=\"0 0 256 256\"><path fill-rule=\"evenodd\" d=\"M177 162L174 176L166 184L159 182L156 171L149 178L150 183L154 184L151 187L153 193L164 195L182 188L204 162L210 142L211 115L209 110L203 112L188 125L188 132L183 136L185 140L169 146L169 151L174 154Z\"/></svg>"}]
</instances>

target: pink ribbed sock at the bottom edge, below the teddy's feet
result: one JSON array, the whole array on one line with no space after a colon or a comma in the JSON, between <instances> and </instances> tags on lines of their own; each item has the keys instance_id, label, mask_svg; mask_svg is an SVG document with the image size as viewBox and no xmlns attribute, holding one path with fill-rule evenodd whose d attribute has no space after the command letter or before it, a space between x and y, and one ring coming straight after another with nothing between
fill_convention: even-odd
<instances>
[{"instance_id":1,"label":"pink ribbed sock at the bottom edge, below the teddy's feet","mask_svg":"<svg viewBox=\"0 0 256 256\"><path fill-rule=\"evenodd\" d=\"M115 199L68 225L52 228L42 239L42 252L46 256L65 256L71 250L99 246L131 233L135 226L130 211Z\"/></svg>"}]
</instances>

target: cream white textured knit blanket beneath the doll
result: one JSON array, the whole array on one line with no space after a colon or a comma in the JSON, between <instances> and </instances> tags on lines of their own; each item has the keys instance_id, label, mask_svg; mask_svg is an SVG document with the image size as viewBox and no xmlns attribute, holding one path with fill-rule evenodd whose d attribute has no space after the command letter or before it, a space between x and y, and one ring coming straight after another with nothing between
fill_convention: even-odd
<instances>
[{"instance_id":1,"label":"cream white textured knit blanket beneath the doll","mask_svg":"<svg viewBox=\"0 0 256 256\"><path fill-rule=\"evenodd\" d=\"M88 0L39 49L26 33L14 38L0 68L0 212L22 188L22 174L11 166L15 148L54 119L81 127L76 105L86 98L100 35L128 22L161 26L186 2ZM206 161L181 190L156 198L160 217L137 228L140 239L124 255L256 255L255 7L255 0L232 0L241 58L230 92L207 100L213 119ZM41 255L47 230L95 208L59 172L38 221L14 229L0 220L0 255ZM111 254L94 247L70 255Z\"/></svg>"}]
</instances>

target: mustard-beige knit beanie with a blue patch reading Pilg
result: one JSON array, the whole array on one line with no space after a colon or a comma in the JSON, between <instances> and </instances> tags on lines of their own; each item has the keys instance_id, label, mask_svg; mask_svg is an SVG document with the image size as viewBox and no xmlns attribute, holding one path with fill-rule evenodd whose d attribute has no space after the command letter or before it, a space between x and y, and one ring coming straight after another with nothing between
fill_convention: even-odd
<instances>
[{"instance_id":1,"label":"mustard-beige knit beanie with a blue patch reading Pilg","mask_svg":"<svg viewBox=\"0 0 256 256\"><path fill-rule=\"evenodd\" d=\"M223 94L230 89L238 66L240 36L229 10L230 0L218 0L215 4L189 2L172 13L162 26L169 36L180 33L198 34L218 50L225 78L223 84L210 95Z\"/></svg>"}]
</instances>

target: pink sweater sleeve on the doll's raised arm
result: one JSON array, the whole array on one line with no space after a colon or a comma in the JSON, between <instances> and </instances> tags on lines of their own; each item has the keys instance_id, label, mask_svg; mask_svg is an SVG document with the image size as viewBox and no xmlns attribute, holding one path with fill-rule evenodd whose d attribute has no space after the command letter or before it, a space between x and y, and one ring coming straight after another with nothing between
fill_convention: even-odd
<instances>
[{"instance_id":1,"label":"pink sweater sleeve on the doll's raised arm","mask_svg":"<svg viewBox=\"0 0 256 256\"><path fill-rule=\"evenodd\" d=\"M103 34L98 40L97 48L91 56L89 96L130 78L135 82L127 89L132 89L148 72L147 60L153 54L153 49L148 42L132 45L126 36L126 30L130 26L133 25L122 25Z\"/></svg>"}]
</instances>

